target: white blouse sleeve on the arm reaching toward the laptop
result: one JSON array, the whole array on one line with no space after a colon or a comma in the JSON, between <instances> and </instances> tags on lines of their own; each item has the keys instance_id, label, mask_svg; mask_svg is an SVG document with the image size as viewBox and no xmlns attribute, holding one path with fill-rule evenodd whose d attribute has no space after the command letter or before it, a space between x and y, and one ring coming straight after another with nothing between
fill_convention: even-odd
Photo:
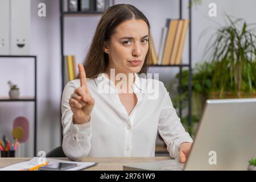
<instances>
[{"instance_id":1,"label":"white blouse sleeve on the arm reaching toward the laptop","mask_svg":"<svg viewBox=\"0 0 256 182\"><path fill-rule=\"evenodd\" d=\"M177 116L176 110L172 105L171 98L164 87L163 82L160 83L160 85L162 85L160 86L162 87L160 89L164 89L164 100L159 118L158 131L167 145L167 150L170 153L170 156L179 159L179 148L181 143L193 142L193 140L181 124L180 118Z\"/></svg>"}]
</instances>

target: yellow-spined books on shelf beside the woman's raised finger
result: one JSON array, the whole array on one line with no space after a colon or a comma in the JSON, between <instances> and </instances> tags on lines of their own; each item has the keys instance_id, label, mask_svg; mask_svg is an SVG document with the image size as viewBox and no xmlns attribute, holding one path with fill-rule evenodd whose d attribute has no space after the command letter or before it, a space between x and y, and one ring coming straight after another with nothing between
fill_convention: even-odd
<instances>
[{"instance_id":1,"label":"yellow-spined books on shelf beside the woman's raised finger","mask_svg":"<svg viewBox=\"0 0 256 182\"><path fill-rule=\"evenodd\" d=\"M64 59L64 84L76 78L76 59L74 55L67 55Z\"/></svg>"}]
</instances>

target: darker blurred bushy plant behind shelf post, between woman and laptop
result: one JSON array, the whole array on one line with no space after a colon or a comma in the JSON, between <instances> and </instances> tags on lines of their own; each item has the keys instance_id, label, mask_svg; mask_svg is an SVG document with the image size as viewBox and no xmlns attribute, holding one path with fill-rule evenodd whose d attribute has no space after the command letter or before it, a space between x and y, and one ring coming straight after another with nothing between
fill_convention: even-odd
<instances>
[{"instance_id":1,"label":"darker blurred bushy plant behind shelf post, between woman and laptop","mask_svg":"<svg viewBox=\"0 0 256 182\"><path fill-rule=\"evenodd\" d=\"M214 64L203 61L202 63L196 63L195 68L192 69L192 125L188 126L188 116L181 117L181 123L186 130L193 135L194 130L197 127L197 123L203 113L205 100L209 97L210 89L212 88L212 74L214 71ZM182 94L172 98L172 103L175 108L185 109L188 106L188 69L183 69L181 84L177 87L181 90ZM169 92L179 79L179 73L175 76L176 80L168 86ZM181 102L182 101L182 102Z\"/></svg>"}]
</instances>

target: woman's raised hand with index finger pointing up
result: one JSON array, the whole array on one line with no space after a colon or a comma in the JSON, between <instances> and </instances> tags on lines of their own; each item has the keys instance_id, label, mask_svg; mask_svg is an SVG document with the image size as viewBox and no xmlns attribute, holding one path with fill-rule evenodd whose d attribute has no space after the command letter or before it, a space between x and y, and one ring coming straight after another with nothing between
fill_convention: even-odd
<instances>
[{"instance_id":1,"label":"woman's raised hand with index finger pointing up","mask_svg":"<svg viewBox=\"0 0 256 182\"><path fill-rule=\"evenodd\" d=\"M94 106L94 99L90 95L86 84L86 73L82 64L79 64L81 86L71 94L69 105L73 112L74 124L85 124L90 121L90 113Z\"/></svg>"}]
</instances>

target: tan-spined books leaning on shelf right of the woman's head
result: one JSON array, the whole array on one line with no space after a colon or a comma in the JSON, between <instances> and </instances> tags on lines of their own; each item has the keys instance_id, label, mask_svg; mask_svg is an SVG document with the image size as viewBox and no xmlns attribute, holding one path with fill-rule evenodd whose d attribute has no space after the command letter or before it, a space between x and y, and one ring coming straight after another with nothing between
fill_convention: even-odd
<instances>
[{"instance_id":1,"label":"tan-spined books leaning on shelf right of the woman's head","mask_svg":"<svg viewBox=\"0 0 256 182\"><path fill-rule=\"evenodd\" d=\"M181 64L188 26L188 19L167 19L166 27L162 29L159 65Z\"/></svg>"}]
</instances>

